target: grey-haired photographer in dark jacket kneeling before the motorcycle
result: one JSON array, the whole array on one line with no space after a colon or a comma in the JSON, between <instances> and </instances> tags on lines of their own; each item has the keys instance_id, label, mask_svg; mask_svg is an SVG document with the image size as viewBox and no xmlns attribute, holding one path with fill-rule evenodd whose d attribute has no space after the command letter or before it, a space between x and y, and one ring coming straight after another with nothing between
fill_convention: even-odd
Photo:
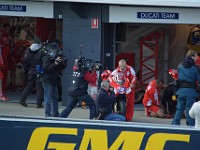
<instances>
[{"instance_id":1,"label":"grey-haired photographer in dark jacket kneeling before the motorcycle","mask_svg":"<svg viewBox=\"0 0 200 150\"><path fill-rule=\"evenodd\" d=\"M98 118L101 120L125 121L125 117L112 112L116 97L108 81L101 82L99 95L97 96Z\"/></svg>"}]
</instances>

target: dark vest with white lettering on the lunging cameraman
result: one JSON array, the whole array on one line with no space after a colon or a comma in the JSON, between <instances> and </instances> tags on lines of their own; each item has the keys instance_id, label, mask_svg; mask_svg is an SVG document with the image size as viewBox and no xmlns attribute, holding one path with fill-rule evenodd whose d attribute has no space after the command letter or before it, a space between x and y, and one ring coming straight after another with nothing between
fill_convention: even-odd
<instances>
[{"instance_id":1,"label":"dark vest with white lettering on the lunging cameraman","mask_svg":"<svg viewBox=\"0 0 200 150\"><path fill-rule=\"evenodd\" d=\"M82 96L87 94L88 81L84 79L86 72L73 71L71 85L68 88L69 96Z\"/></svg>"}]
</instances>

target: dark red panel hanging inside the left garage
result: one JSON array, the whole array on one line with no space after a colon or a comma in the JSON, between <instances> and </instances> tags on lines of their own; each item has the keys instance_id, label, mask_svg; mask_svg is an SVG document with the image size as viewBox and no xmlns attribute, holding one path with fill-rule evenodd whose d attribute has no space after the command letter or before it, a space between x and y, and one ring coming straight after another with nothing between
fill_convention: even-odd
<instances>
[{"instance_id":1,"label":"dark red panel hanging inside the left garage","mask_svg":"<svg viewBox=\"0 0 200 150\"><path fill-rule=\"evenodd\" d=\"M56 20L37 18L36 19L36 36L41 39L42 42L52 41L56 38Z\"/></svg>"}]
</instances>

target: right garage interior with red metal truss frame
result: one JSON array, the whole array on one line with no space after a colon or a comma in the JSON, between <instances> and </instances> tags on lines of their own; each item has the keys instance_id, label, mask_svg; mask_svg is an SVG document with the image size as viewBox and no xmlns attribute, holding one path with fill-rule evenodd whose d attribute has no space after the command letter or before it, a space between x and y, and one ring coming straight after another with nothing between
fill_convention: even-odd
<instances>
[{"instance_id":1,"label":"right garage interior with red metal truss frame","mask_svg":"<svg viewBox=\"0 0 200 150\"><path fill-rule=\"evenodd\" d=\"M128 62L142 85L157 77L170 82L168 69L177 69L187 50L198 51L197 42L192 42L198 35L198 25L193 24L116 24L116 65L118 57L133 57Z\"/></svg>"}]
</instances>

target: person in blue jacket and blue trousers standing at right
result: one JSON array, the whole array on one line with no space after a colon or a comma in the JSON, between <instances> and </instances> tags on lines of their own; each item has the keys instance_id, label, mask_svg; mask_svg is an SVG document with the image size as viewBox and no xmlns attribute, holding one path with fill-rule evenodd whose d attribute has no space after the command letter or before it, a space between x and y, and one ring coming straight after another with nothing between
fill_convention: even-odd
<instances>
[{"instance_id":1,"label":"person in blue jacket and blue trousers standing at right","mask_svg":"<svg viewBox=\"0 0 200 150\"><path fill-rule=\"evenodd\" d=\"M198 97L197 83L200 83L200 72L195 65L198 59L197 52L189 50L182 63L178 66L177 109L173 125L180 125L184 110L186 110L187 126L194 126L195 120L190 117L189 110Z\"/></svg>"}]
</instances>

